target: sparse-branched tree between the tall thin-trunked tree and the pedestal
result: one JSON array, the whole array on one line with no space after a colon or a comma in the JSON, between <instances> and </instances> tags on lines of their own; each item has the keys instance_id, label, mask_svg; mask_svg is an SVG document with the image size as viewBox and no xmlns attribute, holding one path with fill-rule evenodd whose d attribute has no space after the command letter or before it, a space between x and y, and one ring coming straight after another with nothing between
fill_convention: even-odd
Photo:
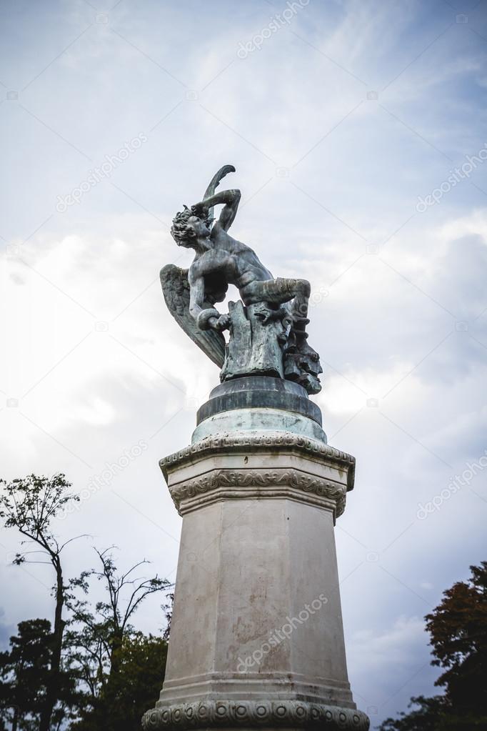
<instances>
[{"instance_id":1,"label":"sparse-branched tree between the tall thin-trunked tree and the pedestal","mask_svg":"<svg viewBox=\"0 0 487 731\"><path fill-rule=\"evenodd\" d=\"M151 694L147 677L153 670L147 665L144 672L139 673L137 682L140 685L134 697L126 687L129 683L127 667L139 662L137 658L140 659L144 653L156 654L158 660L154 667L161 683L161 669L165 667L164 638L152 635L147 638L136 632L131 619L147 596L166 591L171 585L157 575L134 577L134 572L148 563L145 560L118 574L111 550L100 552L95 549L100 569L85 571L70 583L68 603L73 627L66 632L66 644L70 648L72 672L85 692L81 720L76 728L91 731L98 728L104 731L112 728L117 731L138 729L140 716L135 726L131 725L130 719L134 717L134 708L138 712L139 705L143 705L147 692ZM88 600L76 596L77 589L81 589L83 594L93 592L93 579L101 582L107 594L106 599L96 602L94 609ZM154 658L150 662L154 662ZM164 673L162 675L164 677ZM154 697L150 697L152 702Z\"/></svg>"}]
</instances>

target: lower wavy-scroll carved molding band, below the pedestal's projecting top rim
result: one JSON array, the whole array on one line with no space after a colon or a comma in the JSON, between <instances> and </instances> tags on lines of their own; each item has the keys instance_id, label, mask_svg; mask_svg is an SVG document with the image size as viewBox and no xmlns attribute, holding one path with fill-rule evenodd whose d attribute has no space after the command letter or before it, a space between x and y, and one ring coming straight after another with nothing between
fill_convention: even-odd
<instances>
[{"instance_id":1,"label":"lower wavy-scroll carved molding band, below the pedestal's projecting top rim","mask_svg":"<svg viewBox=\"0 0 487 731\"><path fill-rule=\"evenodd\" d=\"M194 477L192 480L178 482L169 488L169 492L177 509L180 510L181 501L196 498L218 488L250 488L250 494L246 492L243 495L245 497L253 496L253 493L256 496L265 497L265 493L252 491L251 488L271 488L269 497L276 496L276 491L272 488L284 488L280 490L283 496L286 495L285 488L288 488L287 494L289 494L289 488L291 488L294 491L301 491L307 495L331 501L334 504L335 518L342 515L345 510L347 494L346 485L340 485L339 482L331 482L330 480L321 480L320 477L299 469L218 469L201 477ZM226 493L225 496L231 497L232 494ZM233 496L242 495L236 493ZM181 512L185 511L182 510Z\"/></svg>"}]
</instances>

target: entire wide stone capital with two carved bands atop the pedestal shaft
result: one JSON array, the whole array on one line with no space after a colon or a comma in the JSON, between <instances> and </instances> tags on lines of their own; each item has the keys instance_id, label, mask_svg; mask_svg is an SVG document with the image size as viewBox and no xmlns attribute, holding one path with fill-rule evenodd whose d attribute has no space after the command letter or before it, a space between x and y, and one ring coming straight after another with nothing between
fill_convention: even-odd
<instances>
[{"instance_id":1,"label":"entire wide stone capital with two carved bands atop the pedestal shaft","mask_svg":"<svg viewBox=\"0 0 487 731\"><path fill-rule=\"evenodd\" d=\"M180 515L223 499L285 498L345 510L355 459L286 432L228 433L202 439L160 462Z\"/></svg>"}]
</instances>

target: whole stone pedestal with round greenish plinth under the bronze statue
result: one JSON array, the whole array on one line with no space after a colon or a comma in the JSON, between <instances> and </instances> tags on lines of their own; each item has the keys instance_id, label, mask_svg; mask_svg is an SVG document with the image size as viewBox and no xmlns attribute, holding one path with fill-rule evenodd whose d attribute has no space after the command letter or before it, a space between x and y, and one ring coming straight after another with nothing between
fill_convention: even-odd
<instances>
[{"instance_id":1,"label":"whole stone pedestal with round greenish plinth under the bronze statue","mask_svg":"<svg viewBox=\"0 0 487 731\"><path fill-rule=\"evenodd\" d=\"M183 532L166 678L144 727L365 731L334 544L355 461L326 444L304 388L239 380L212 392L191 447L161 460Z\"/></svg>"}]
</instances>

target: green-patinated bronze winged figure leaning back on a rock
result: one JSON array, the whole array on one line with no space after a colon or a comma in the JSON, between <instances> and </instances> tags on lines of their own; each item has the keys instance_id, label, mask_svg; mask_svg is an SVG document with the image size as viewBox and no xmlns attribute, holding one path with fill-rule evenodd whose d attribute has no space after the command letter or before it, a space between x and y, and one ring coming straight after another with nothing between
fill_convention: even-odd
<instances>
[{"instance_id":1,"label":"green-patinated bronze winged figure leaning back on a rock","mask_svg":"<svg viewBox=\"0 0 487 731\"><path fill-rule=\"evenodd\" d=\"M322 369L306 332L310 283L274 279L253 249L229 235L240 192L215 189L234 172L233 165L221 167L203 200L173 219L172 237L178 246L193 249L195 257L189 270L175 265L161 270L166 304L185 333L222 368L222 381L269 375L318 393ZM218 221L212 216L215 205L223 205ZM229 314L220 314L215 303L225 299L229 284L241 300L229 303ZM228 344L223 330L229 330Z\"/></svg>"}]
</instances>

